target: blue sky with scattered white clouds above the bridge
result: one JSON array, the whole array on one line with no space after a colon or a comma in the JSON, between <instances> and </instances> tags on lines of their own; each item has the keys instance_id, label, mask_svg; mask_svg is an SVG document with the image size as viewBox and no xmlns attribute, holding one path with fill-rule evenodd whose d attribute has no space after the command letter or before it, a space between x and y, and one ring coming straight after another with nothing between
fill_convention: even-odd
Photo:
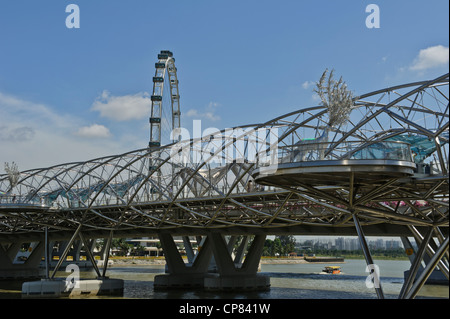
<instances>
[{"instance_id":1,"label":"blue sky with scattered white clouds above the bridge","mask_svg":"<svg viewBox=\"0 0 450 319\"><path fill-rule=\"evenodd\" d=\"M80 8L69 29L66 6ZM380 8L369 29L366 6ZM316 105L334 68L356 94L448 72L449 2L0 2L0 162L19 169L146 147L154 63L171 50L182 125L228 128ZM3 165L0 165L0 172Z\"/></svg>"}]
</instances>

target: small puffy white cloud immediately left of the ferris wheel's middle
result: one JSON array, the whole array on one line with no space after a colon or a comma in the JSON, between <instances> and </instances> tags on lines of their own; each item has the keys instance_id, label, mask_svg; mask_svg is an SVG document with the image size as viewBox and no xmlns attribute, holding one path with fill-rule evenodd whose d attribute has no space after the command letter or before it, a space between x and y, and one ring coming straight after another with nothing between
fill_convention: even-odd
<instances>
[{"instance_id":1,"label":"small puffy white cloud immediately left of the ferris wheel's middle","mask_svg":"<svg viewBox=\"0 0 450 319\"><path fill-rule=\"evenodd\" d=\"M139 120L149 117L152 102L148 93L113 96L104 90L92 104L92 110L100 112L100 116L115 121Z\"/></svg>"}]
</instances>

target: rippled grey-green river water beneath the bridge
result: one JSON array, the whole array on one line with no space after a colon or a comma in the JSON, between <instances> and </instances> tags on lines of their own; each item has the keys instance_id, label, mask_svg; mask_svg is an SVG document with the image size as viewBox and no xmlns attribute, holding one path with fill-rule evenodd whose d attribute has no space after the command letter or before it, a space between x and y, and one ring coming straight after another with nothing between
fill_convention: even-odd
<instances>
[{"instance_id":1,"label":"rippled grey-green river water beneath the bridge","mask_svg":"<svg viewBox=\"0 0 450 319\"><path fill-rule=\"evenodd\" d=\"M381 286L386 298L396 299L403 284L403 272L409 261L380 260ZM332 264L326 264L332 265ZM323 274L324 264L263 264L261 274L270 276L271 289L264 292L207 292L203 290L155 291L154 277L164 273L164 265L112 266L110 278L124 280L123 297L101 299L375 299L373 288L366 287L368 273L364 260L346 260L337 275ZM62 273L64 274L64 273ZM82 278L95 277L93 272ZM20 285L0 282L0 298L20 298ZM14 286L15 285L15 286ZM92 297L91 297L92 298ZM449 298L448 286L425 285L417 298Z\"/></svg>"}]
</instances>

